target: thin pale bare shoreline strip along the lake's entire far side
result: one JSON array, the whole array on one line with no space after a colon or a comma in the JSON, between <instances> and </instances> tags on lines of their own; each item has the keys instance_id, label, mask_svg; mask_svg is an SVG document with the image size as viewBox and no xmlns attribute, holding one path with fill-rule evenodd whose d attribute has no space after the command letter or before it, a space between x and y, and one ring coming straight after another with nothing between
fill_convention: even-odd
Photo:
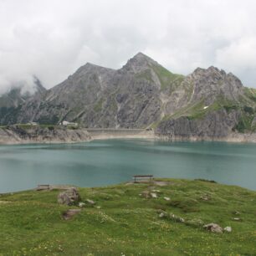
<instances>
[{"instance_id":1,"label":"thin pale bare shoreline strip along the lake's entire far side","mask_svg":"<svg viewBox=\"0 0 256 256\"><path fill-rule=\"evenodd\" d=\"M143 129L69 129L65 127L49 128L31 127L29 129L0 128L0 146L24 144L60 144L83 143L109 139L151 139L156 141L220 141L232 143L256 143L256 133L231 133L225 137L210 136L172 136L161 135L155 131Z\"/></svg>"}]
</instances>

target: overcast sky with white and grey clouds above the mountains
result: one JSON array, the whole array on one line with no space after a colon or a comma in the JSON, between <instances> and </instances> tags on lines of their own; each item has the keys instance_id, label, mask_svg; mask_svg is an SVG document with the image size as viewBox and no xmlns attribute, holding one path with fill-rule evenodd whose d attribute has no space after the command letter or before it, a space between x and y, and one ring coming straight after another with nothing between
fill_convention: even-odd
<instances>
[{"instance_id":1,"label":"overcast sky with white and grey clouds above the mountains","mask_svg":"<svg viewBox=\"0 0 256 256\"><path fill-rule=\"evenodd\" d=\"M255 13L253 0L0 0L0 90L33 74L50 88L86 62L119 69L138 52L256 87Z\"/></svg>"}]
</instances>

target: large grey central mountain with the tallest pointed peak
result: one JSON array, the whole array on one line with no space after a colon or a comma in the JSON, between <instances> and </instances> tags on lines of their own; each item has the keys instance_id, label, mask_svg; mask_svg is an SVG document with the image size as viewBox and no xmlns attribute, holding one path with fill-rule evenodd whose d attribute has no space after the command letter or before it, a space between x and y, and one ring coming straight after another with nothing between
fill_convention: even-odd
<instances>
[{"instance_id":1,"label":"large grey central mountain with the tallest pointed peak","mask_svg":"<svg viewBox=\"0 0 256 256\"><path fill-rule=\"evenodd\" d=\"M69 120L87 127L146 127L161 119L161 91L182 79L141 53L118 70L85 64L40 100L28 100L17 122Z\"/></svg>"}]
</instances>

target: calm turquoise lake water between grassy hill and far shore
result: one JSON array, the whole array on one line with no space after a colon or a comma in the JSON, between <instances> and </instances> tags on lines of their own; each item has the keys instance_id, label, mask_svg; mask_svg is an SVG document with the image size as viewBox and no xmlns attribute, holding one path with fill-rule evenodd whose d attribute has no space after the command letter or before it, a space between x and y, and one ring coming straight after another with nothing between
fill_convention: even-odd
<instances>
[{"instance_id":1,"label":"calm turquoise lake water between grassy hill and far shore","mask_svg":"<svg viewBox=\"0 0 256 256\"><path fill-rule=\"evenodd\" d=\"M98 187L136 174L204 178L256 190L256 144L106 140L0 146L0 192L38 184Z\"/></svg>"}]
</instances>

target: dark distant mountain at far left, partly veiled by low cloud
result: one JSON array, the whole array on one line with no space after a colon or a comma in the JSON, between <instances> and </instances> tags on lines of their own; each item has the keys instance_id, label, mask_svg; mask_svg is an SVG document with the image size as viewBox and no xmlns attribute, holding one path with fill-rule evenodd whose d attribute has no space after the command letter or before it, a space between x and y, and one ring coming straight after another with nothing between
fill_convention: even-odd
<instances>
[{"instance_id":1,"label":"dark distant mountain at far left, partly veiled by low cloud","mask_svg":"<svg viewBox=\"0 0 256 256\"><path fill-rule=\"evenodd\" d=\"M26 89L26 84L19 83L13 84L11 89L0 95L0 122L13 123L16 120L16 113L28 99L31 97L38 97L44 94L46 89L41 84L37 77L33 77L33 88L31 90ZM34 99L35 99L34 98Z\"/></svg>"}]
</instances>

